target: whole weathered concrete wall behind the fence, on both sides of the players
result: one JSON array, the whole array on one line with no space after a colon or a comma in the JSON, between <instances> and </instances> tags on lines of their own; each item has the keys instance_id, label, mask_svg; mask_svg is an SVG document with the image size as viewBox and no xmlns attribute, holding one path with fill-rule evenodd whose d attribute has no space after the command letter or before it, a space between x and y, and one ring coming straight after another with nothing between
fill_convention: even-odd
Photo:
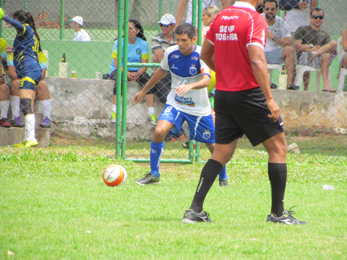
<instances>
[{"instance_id":1,"label":"whole weathered concrete wall behind the fence, on both sides of the players","mask_svg":"<svg viewBox=\"0 0 347 260\"><path fill-rule=\"evenodd\" d=\"M109 120L114 83L108 80L46 78L52 95L52 131L87 137L91 133L114 138L115 124ZM154 127L147 121L146 103L134 104L139 84L128 83L127 139L150 139ZM347 128L347 93L273 90L288 129ZM163 105L157 100L156 115Z\"/></svg>"}]
</instances>

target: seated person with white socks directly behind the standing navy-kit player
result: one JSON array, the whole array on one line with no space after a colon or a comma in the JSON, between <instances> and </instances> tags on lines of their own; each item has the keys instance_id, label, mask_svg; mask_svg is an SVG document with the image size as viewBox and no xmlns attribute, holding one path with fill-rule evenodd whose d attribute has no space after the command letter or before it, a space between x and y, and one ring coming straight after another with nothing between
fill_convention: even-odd
<instances>
[{"instance_id":1,"label":"seated person with white socks directly behind the standing navy-kit player","mask_svg":"<svg viewBox=\"0 0 347 260\"><path fill-rule=\"evenodd\" d=\"M20 119L20 107L19 107L19 84L20 84L20 75L17 75L16 70L13 64L13 50L12 47L7 47L8 53L8 63L7 63L7 71L8 77L11 79L10 82L7 83L7 86L10 90L10 104L12 111L12 122L11 125L14 127L24 127L24 122ZM35 99L39 101L40 111L43 113L43 120L40 123L41 127L49 128L51 127L51 106L52 100L50 91L48 89L47 82L43 81L46 76L47 71L47 58L44 52L41 50L41 46L39 46L38 59L40 63L40 67L42 69L42 76L39 84L36 87ZM19 77L18 77L19 76Z\"/></svg>"}]
</instances>

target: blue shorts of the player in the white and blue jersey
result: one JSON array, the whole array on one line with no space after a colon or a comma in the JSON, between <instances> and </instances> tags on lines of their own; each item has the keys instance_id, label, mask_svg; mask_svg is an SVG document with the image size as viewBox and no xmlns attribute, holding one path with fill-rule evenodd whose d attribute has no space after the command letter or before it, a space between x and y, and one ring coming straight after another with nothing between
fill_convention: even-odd
<instances>
[{"instance_id":1,"label":"blue shorts of the player in the white and blue jersey","mask_svg":"<svg viewBox=\"0 0 347 260\"><path fill-rule=\"evenodd\" d=\"M195 140L205 144L215 143L215 127L213 125L212 115L191 115L177 110L172 105L166 104L158 121L160 120L165 120L175 125L170 130L172 135L177 134L181 130L182 124L186 120L189 127L189 140Z\"/></svg>"}]
</instances>

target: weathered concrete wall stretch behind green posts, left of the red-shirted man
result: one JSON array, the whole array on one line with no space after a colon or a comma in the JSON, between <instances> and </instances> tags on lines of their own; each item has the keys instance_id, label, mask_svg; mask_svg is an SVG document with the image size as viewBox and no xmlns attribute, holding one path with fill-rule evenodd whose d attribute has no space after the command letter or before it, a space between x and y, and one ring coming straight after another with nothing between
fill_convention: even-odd
<instances>
[{"instance_id":1,"label":"weathered concrete wall stretch behind green posts, left of the red-shirted man","mask_svg":"<svg viewBox=\"0 0 347 260\"><path fill-rule=\"evenodd\" d=\"M87 137L91 133L114 138L115 124L110 122L114 81L78 78L47 77L52 97L52 131L66 135ZM127 138L149 138L154 126L147 121L147 105L134 104L139 83L128 83ZM157 100L157 117L163 105Z\"/></svg>"}]
</instances>

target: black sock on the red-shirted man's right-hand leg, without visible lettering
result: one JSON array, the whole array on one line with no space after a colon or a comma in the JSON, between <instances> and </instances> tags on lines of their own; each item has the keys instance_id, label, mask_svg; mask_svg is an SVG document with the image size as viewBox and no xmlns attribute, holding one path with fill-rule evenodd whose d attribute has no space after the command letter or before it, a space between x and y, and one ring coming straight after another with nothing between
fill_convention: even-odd
<instances>
[{"instance_id":1,"label":"black sock on the red-shirted man's right-hand leg, without visible lettering","mask_svg":"<svg viewBox=\"0 0 347 260\"><path fill-rule=\"evenodd\" d=\"M283 200L287 182L287 163L269 162L268 173L271 184L271 212L282 216L285 210Z\"/></svg>"}]
</instances>

